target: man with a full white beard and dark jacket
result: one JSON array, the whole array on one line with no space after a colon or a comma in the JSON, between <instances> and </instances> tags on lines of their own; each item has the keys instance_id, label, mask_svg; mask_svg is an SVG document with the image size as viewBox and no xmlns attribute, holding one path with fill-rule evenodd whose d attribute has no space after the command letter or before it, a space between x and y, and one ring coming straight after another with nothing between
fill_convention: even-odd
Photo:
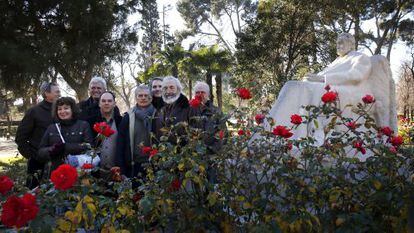
<instances>
[{"instance_id":1,"label":"man with a full white beard and dark jacket","mask_svg":"<svg viewBox=\"0 0 414 233\"><path fill-rule=\"evenodd\" d=\"M158 139L162 136L168 136L172 143L177 142L177 135L184 134L184 129L178 127L171 131L172 126L180 122L187 122L189 120L190 106L187 97L182 92L180 81L173 77L167 76L162 81L162 99L165 102L164 107L161 108L157 114L155 121L155 132Z\"/></svg>"}]
</instances>

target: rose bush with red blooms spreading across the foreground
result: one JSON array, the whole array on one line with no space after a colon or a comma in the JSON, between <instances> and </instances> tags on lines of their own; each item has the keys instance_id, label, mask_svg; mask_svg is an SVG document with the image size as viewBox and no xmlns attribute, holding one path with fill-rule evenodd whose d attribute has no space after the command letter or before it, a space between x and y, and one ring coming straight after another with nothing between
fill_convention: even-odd
<instances>
[{"instance_id":1,"label":"rose bush with red blooms spreading across the foreground","mask_svg":"<svg viewBox=\"0 0 414 233\"><path fill-rule=\"evenodd\" d=\"M76 176L58 169L52 183L32 191L39 207L35 218L33 201L5 208L2 197L2 223L29 222L34 232L407 232L412 147L404 135L375 125L368 115L374 96L361 99L352 109L357 119L350 119L337 108L337 93L326 90L320 105L306 106L291 125L235 108L237 121L227 123L231 132L214 134L223 145L214 152L203 132L187 126L182 135L181 125L177 144L162 138L142 148L151 159L137 189L117 167L110 181L97 178L96 167L75 170ZM245 94L239 97L248 99ZM319 125L320 118L329 123ZM321 146L310 135L292 139L299 124L323 127ZM360 160L363 154L370 157ZM12 190L6 192L14 196L11 203L23 203L16 198L27 190ZM25 208L30 214L15 218Z\"/></svg>"}]
</instances>

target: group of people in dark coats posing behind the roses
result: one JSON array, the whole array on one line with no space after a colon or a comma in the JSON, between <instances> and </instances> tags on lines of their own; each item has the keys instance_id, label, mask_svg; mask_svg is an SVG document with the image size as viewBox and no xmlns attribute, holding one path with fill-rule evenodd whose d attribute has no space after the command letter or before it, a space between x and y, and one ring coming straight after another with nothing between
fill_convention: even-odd
<instances>
[{"instance_id":1,"label":"group of people in dark coats posing behind the roses","mask_svg":"<svg viewBox=\"0 0 414 233\"><path fill-rule=\"evenodd\" d=\"M115 132L99 142L101 170L120 167L129 178L145 175L143 164L148 154L143 147L163 138L173 144L182 142L179 137L184 133L171 130L178 123L200 129L207 148L214 153L220 147L214 135L223 124L221 111L209 99L209 86L195 84L195 94L201 100L196 107L190 107L182 91L180 81L173 76L154 78L149 85L135 89L135 106L121 116L114 93L107 91L101 77L91 79L89 98L78 104L71 97L61 97L56 83L42 84L43 101L26 112L15 139L20 154L28 159L26 185L38 186L69 155L85 153L96 145L93 126L100 122Z\"/></svg>"}]
</instances>

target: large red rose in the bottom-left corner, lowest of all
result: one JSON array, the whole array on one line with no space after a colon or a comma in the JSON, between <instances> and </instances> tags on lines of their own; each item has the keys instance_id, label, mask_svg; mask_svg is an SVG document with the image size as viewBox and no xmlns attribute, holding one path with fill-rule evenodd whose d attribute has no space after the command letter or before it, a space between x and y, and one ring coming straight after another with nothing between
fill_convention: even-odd
<instances>
[{"instance_id":1,"label":"large red rose in the bottom-left corner, lowest of all","mask_svg":"<svg viewBox=\"0 0 414 233\"><path fill-rule=\"evenodd\" d=\"M2 205L1 222L7 227L20 228L30 220L36 218L39 207L36 204L36 197L26 193L19 198L16 195L7 198Z\"/></svg>"}]
</instances>

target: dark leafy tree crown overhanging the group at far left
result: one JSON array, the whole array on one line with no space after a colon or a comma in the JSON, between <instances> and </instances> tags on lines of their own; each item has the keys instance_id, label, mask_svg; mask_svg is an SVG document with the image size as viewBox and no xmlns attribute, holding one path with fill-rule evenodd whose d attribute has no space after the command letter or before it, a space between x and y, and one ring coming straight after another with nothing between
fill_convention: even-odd
<instances>
[{"instance_id":1,"label":"dark leafy tree crown overhanging the group at far left","mask_svg":"<svg viewBox=\"0 0 414 233\"><path fill-rule=\"evenodd\" d=\"M38 79L53 70L83 99L95 68L125 43L136 43L134 30L125 25L137 0L0 4L1 49L6 51L1 70L8 80Z\"/></svg>"}]
</instances>

